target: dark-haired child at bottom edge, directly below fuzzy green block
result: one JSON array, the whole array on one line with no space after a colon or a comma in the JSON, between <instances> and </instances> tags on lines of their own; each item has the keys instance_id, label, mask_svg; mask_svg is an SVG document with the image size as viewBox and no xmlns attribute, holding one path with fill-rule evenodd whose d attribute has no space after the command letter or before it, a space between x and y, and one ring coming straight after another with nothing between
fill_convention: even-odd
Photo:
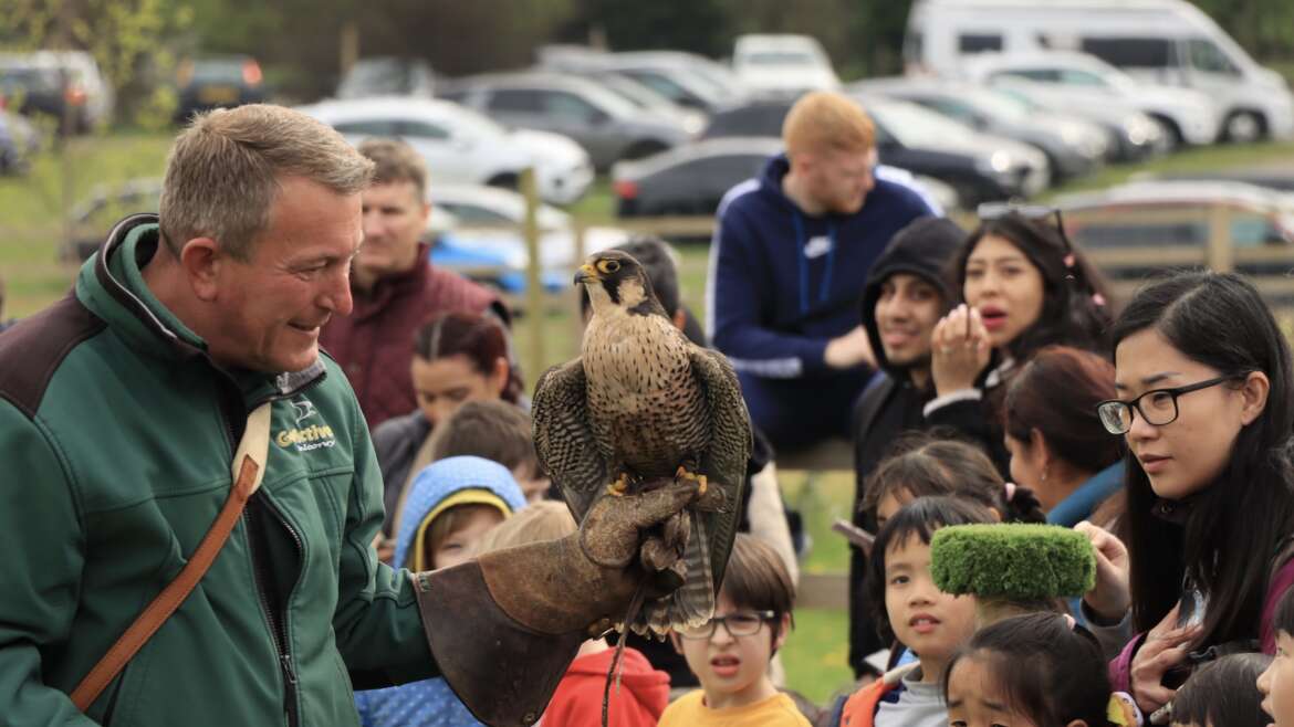
<instances>
[{"instance_id":1,"label":"dark-haired child at bottom edge, directly below fuzzy green block","mask_svg":"<svg viewBox=\"0 0 1294 727\"><path fill-rule=\"evenodd\" d=\"M1014 616L981 629L949 661L943 699L949 724L956 727L1139 723L1131 705L1112 702L1096 638L1057 613Z\"/></svg>"}]
</instances>

